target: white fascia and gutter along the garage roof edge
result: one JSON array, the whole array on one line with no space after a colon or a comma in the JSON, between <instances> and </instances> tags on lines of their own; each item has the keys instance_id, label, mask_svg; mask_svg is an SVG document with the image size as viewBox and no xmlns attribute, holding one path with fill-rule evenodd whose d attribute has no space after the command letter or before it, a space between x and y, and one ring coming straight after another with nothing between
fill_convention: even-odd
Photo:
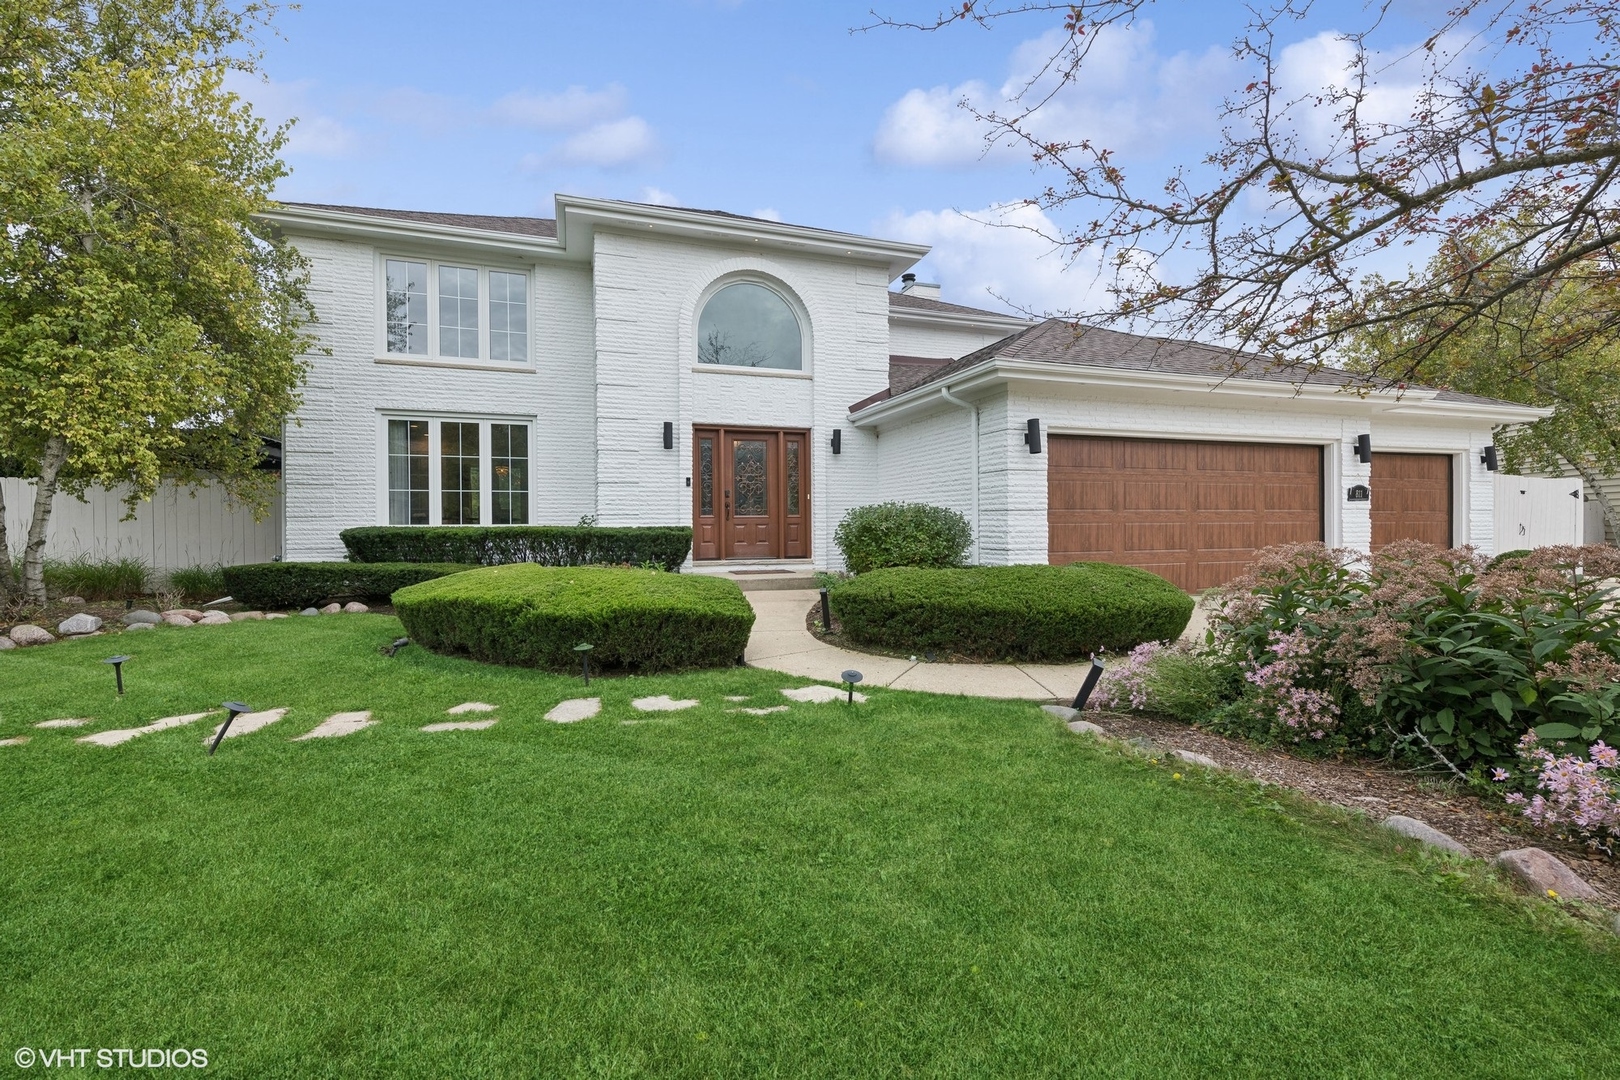
<instances>
[{"instance_id":1,"label":"white fascia and gutter along the garage roof edge","mask_svg":"<svg viewBox=\"0 0 1620 1080\"><path fill-rule=\"evenodd\" d=\"M1094 385L1118 390L1194 390L1200 393L1259 398L1302 400L1319 408L1356 413L1400 413L1408 416L1434 416L1447 419L1474 419L1490 424L1513 424L1550 416L1552 410L1528 405L1484 405L1473 402L1437 402L1439 390L1369 392L1349 393L1338 387L1296 385L1293 382L1259 381L1210 376L1189 376L1166 371L1131 371L1119 368L1085 368L1077 364L1051 364L1030 359L987 359L949 379L923 384L899 397L870 405L850 413L855 427L873 427L897 419L914 410L933 405L943 387L953 393L972 392L995 382L1043 382L1055 385Z\"/></svg>"}]
</instances>

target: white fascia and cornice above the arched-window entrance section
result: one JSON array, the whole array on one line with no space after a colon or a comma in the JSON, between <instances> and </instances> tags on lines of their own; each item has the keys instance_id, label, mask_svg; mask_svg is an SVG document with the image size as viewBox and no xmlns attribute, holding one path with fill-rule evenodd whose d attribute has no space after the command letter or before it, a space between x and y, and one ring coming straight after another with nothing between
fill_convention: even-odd
<instances>
[{"instance_id":1,"label":"white fascia and cornice above the arched-window entrance section","mask_svg":"<svg viewBox=\"0 0 1620 1080\"><path fill-rule=\"evenodd\" d=\"M564 248L572 251L570 244L578 246L588 257L590 244L577 244L577 241L588 240L596 227L637 233L653 232L664 236L698 236L727 243L758 243L761 248L875 262L888 267L891 279L909 270L930 251L927 244L784 225L757 217L721 217L667 206L586 199L572 194L557 196L557 236Z\"/></svg>"}]
</instances>

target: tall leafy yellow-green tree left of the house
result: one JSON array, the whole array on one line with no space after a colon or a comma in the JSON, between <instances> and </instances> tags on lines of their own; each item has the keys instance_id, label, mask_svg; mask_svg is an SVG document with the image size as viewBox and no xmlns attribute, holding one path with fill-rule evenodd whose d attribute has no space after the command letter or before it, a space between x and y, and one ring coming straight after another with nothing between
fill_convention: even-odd
<instances>
[{"instance_id":1,"label":"tall leafy yellow-green tree left of the house","mask_svg":"<svg viewBox=\"0 0 1620 1080\"><path fill-rule=\"evenodd\" d=\"M220 483L262 510L261 432L298 406L305 264L254 215L287 128L225 89L274 8L0 0L0 455L55 492ZM11 585L0 505L0 589Z\"/></svg>"}]
</instances>

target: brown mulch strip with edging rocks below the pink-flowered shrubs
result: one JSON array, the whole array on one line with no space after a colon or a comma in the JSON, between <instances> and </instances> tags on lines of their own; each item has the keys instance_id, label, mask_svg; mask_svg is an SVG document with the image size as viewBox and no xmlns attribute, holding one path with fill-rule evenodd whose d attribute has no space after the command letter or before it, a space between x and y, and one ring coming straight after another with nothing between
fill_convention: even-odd
<instances>
[{"instance_id":1,"label":"brown mulch strip with edging rocks below the pink-flowered shrubs","mask_svg":"<svg viewBox=\"0 0 1620 1080\"><path fill-rule=\"evenodd\" d=\"M1087 711L1085 719L1116 738L1145 738L1162 750L1209 755L1264 784L1359 810L1374 821L1390 814L1418 818L1460 840L1479 858L1494 858L1516 847L1544 848L1602 892L1609 907L1620 908L1620 863L1539 832L1508 808L1492 806L1443 776L1403 771L1385 761L1351 756L1296 758L1186 724L1136 714Z\"/></svg>"}]
</instances>

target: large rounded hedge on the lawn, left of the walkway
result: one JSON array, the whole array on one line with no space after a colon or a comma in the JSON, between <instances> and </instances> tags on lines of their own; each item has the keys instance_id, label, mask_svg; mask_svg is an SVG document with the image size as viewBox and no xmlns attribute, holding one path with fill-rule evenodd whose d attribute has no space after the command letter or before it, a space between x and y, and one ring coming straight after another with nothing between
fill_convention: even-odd
<instances>
[{"instance_id":1,"label":"large rounded hedge on the lawn, left of the walkway","mask_svg":"<svg viewBox=\"0 0 1620 1080\"><path fill-rule=\"evenodd\" d=\"M411 641L434 653L573 672L729 667L753 609L732 581L627 567L483 567L394 594Z\"/></svg>"}]
</instances>

